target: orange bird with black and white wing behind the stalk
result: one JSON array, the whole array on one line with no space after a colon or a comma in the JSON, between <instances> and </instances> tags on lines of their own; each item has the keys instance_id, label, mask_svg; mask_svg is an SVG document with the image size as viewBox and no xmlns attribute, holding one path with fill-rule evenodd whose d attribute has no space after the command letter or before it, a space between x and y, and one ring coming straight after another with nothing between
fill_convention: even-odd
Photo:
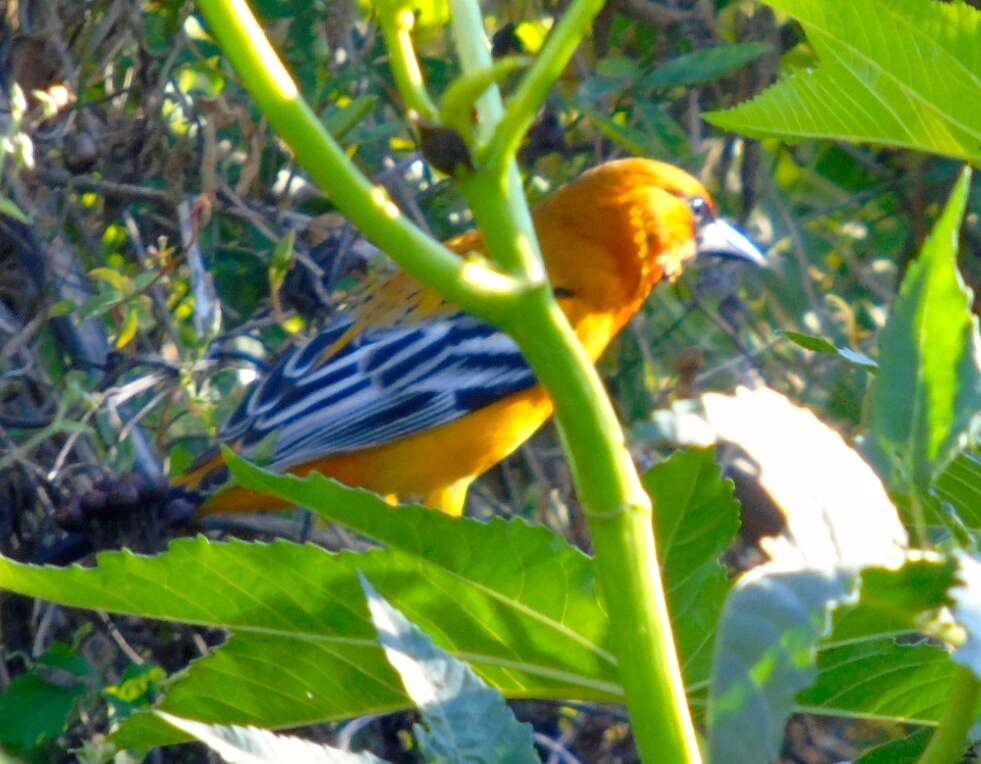
<instances>
[{"instance_id":1,"label":"orange bird with black and white wing behind the stalk","mask_svg":"<svg viewBox=\"0 0 981 764\"><path fill-rule=\"evenodd\" d=\"M764 262L697 180L662 162L600 165L533 217L555 295L594 361L696 254ZM483 248L479 231L447 246ZM222 441L269 469L322 472L461 514L470 483L551 415L548 394L514 340L404 273L366 284L342 308L255 384ZM282 506L222 488L226 476L212 452L178 484L205 496L204 513Z\"/></svg>"}]
</instances>

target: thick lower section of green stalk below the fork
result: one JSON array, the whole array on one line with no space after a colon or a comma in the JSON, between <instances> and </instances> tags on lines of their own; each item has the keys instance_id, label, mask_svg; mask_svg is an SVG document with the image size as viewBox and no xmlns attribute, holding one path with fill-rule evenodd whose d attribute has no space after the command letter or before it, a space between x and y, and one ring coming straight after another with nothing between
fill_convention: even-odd
<instances>
[{"instance_id":1,"label":"thick lower section of green stalk below the fork","mask_svg":"<svg viewBox=\"0 0 981 764\"><path fill-rule=\"evenodd\" d=\"M701 753L654 546L651 500L603 383L551 294L529 294L522 308L515 339L555 404L637 749L647 762L696 764Z\"/></svg>"}]
</instances>

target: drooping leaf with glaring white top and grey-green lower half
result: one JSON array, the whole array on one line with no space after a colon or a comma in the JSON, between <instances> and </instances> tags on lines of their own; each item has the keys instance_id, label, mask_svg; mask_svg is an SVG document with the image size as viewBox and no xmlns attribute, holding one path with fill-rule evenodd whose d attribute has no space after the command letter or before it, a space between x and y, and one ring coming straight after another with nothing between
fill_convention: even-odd
<instances>
[{"instance_id":1,"label":"drooping leaf with glaring white top and grey-green lower half","mask_svg":"<svg viewBox=\"0 0 981 764\"><path fill-rule=\"evenodd\" d=\"M710 750L758 764L777 756L796 694L818 676L829 614L862 568L902 562L906 537L869 466L806 409L765 388L702 402L712 429L754 463L787 523L766 547L770 562L744 575L726 601L709 694Z\"/></svg>"}]
</instances>

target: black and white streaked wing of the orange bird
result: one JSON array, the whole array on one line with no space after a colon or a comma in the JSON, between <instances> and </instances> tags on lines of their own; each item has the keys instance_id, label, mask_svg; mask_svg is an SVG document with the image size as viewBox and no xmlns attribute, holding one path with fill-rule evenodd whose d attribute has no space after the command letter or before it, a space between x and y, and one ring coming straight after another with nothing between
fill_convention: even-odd
<instances>
[{"instance_id":1,"label":"black and white streaked wing of the orange bird","mask_svg":"<svg viewBox=\"0 0 981 764\"><path fill-rule=\"evenodd\" d=\"M283 358L223 439L283 470L448 424L537 384L514 340L465 313L369 329L324 360L350 326Z\"/></svg>"}]
</instances>

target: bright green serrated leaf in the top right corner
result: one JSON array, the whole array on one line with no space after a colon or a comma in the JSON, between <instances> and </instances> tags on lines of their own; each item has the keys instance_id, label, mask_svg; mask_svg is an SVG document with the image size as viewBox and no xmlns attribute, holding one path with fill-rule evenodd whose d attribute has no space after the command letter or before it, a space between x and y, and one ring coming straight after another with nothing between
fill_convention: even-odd
<instances>
[{"instance_id":1,"label":"bright green serrated leaf in the top right corner","mask_svg":"<svg viewBox=\"0 0 981 764\"><path fill-rule=\"evenodd\" d=\"M754 138L872 142L981 163L981 13L932 0L767 0L821 63L709 122Z\"/></svg>"}]
</instances>

